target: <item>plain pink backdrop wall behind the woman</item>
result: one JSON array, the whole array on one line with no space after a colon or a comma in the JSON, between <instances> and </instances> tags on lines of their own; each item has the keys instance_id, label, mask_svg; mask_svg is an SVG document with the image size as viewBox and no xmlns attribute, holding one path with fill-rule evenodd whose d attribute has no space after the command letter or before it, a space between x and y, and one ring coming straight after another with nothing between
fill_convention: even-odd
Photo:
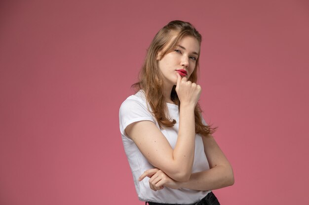
<instances>
[{"instance_id":1,"label":"plain pink backdrop wall behind the woman","mask_svg":"<svg viewBox=\"0 0 309 205\"><path fill-rule=\"evenodd\" d=\"M118 110L176 19L203 36L200 104L235 176L221 204L309 204L308 0L2 0L0 205L144 204Z\"/></svg>"}]
</instances>

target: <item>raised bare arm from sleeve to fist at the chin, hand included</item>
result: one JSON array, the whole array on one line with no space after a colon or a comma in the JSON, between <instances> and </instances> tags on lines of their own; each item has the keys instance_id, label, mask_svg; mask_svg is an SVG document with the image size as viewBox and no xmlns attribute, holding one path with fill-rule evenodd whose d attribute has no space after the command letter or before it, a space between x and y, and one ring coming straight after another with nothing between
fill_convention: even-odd
<instances>
[{"instance_id":1,"label":"raised bare arm from sleeve to fist at the chin, hand included","mask_svg":"<svg viewBox=\"0 0 309 205\"><path fill-rule=\"evenodd\" d=\"M151 121L132 123L127 126L125 132L154 167L177 181L188 181L194 159L194 107L201 88L179 76L176 91L181 100L181 106L179 132L174 149Z\"/></svg>"}]
</instances>

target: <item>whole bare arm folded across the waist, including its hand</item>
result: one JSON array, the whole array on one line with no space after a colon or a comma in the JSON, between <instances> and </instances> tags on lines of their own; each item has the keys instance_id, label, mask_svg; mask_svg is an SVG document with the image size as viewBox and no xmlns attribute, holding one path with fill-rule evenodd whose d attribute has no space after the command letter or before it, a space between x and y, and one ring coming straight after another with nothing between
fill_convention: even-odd
<instances>
[{"instance_id":1,"label":"whole bare arm folded across the waist, including its hand","mask_svg":"<svg viewBox=\"0 0 309 205\"><path fill-rule=\"evenodd\" d=\"M189 181L179 182L171 179L159 169L150 169L143 173L139 180L141 181L146 176L150 177L150 187L155 191L162 189L163 186L172 189L187 188L206 191L233 185L234 175L232 166L214 138L202 137L202 139L209 163L209 170L193 173Z\"/></svg>"}]
</instances>

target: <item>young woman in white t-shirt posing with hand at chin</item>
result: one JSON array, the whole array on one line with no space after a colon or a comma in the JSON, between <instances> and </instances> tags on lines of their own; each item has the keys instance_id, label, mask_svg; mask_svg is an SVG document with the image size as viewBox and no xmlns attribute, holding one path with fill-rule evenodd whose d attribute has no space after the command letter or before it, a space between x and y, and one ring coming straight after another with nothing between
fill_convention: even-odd
<instances>
[{"instance_id":1,"label":"young woman in white t-shirt posing with hand at chin","mask_svg":"<svg viewBox=\"0 0 309 205\"><path fill-rule=\"evenodd\" d=\"M172 21L147 51L134 95L120 106L123 146L139 200L149 205L219 205L213 189L234 183L232 167L202 118L197 82L201 35Z\"/></svg>"}]
</instances>

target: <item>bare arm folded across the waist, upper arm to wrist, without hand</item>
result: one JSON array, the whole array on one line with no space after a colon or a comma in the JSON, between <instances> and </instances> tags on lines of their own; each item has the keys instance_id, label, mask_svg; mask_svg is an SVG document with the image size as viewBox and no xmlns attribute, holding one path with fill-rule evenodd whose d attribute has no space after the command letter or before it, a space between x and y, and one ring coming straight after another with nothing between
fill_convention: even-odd
<instances>
[{"instance_id":1,"label":"bare arm folded across the waist, upper arm to wrist, without hand","mask_svg":"<svg viewBox=\"0 0 309 205\"><path fill-rule=\"evenodd\" d=\"M209 170L193 173L187 182L179 182L180 187L194 190L214 190L234 184L230 162L214 138L202 137Z\"/></svg>"}]
</instances>

